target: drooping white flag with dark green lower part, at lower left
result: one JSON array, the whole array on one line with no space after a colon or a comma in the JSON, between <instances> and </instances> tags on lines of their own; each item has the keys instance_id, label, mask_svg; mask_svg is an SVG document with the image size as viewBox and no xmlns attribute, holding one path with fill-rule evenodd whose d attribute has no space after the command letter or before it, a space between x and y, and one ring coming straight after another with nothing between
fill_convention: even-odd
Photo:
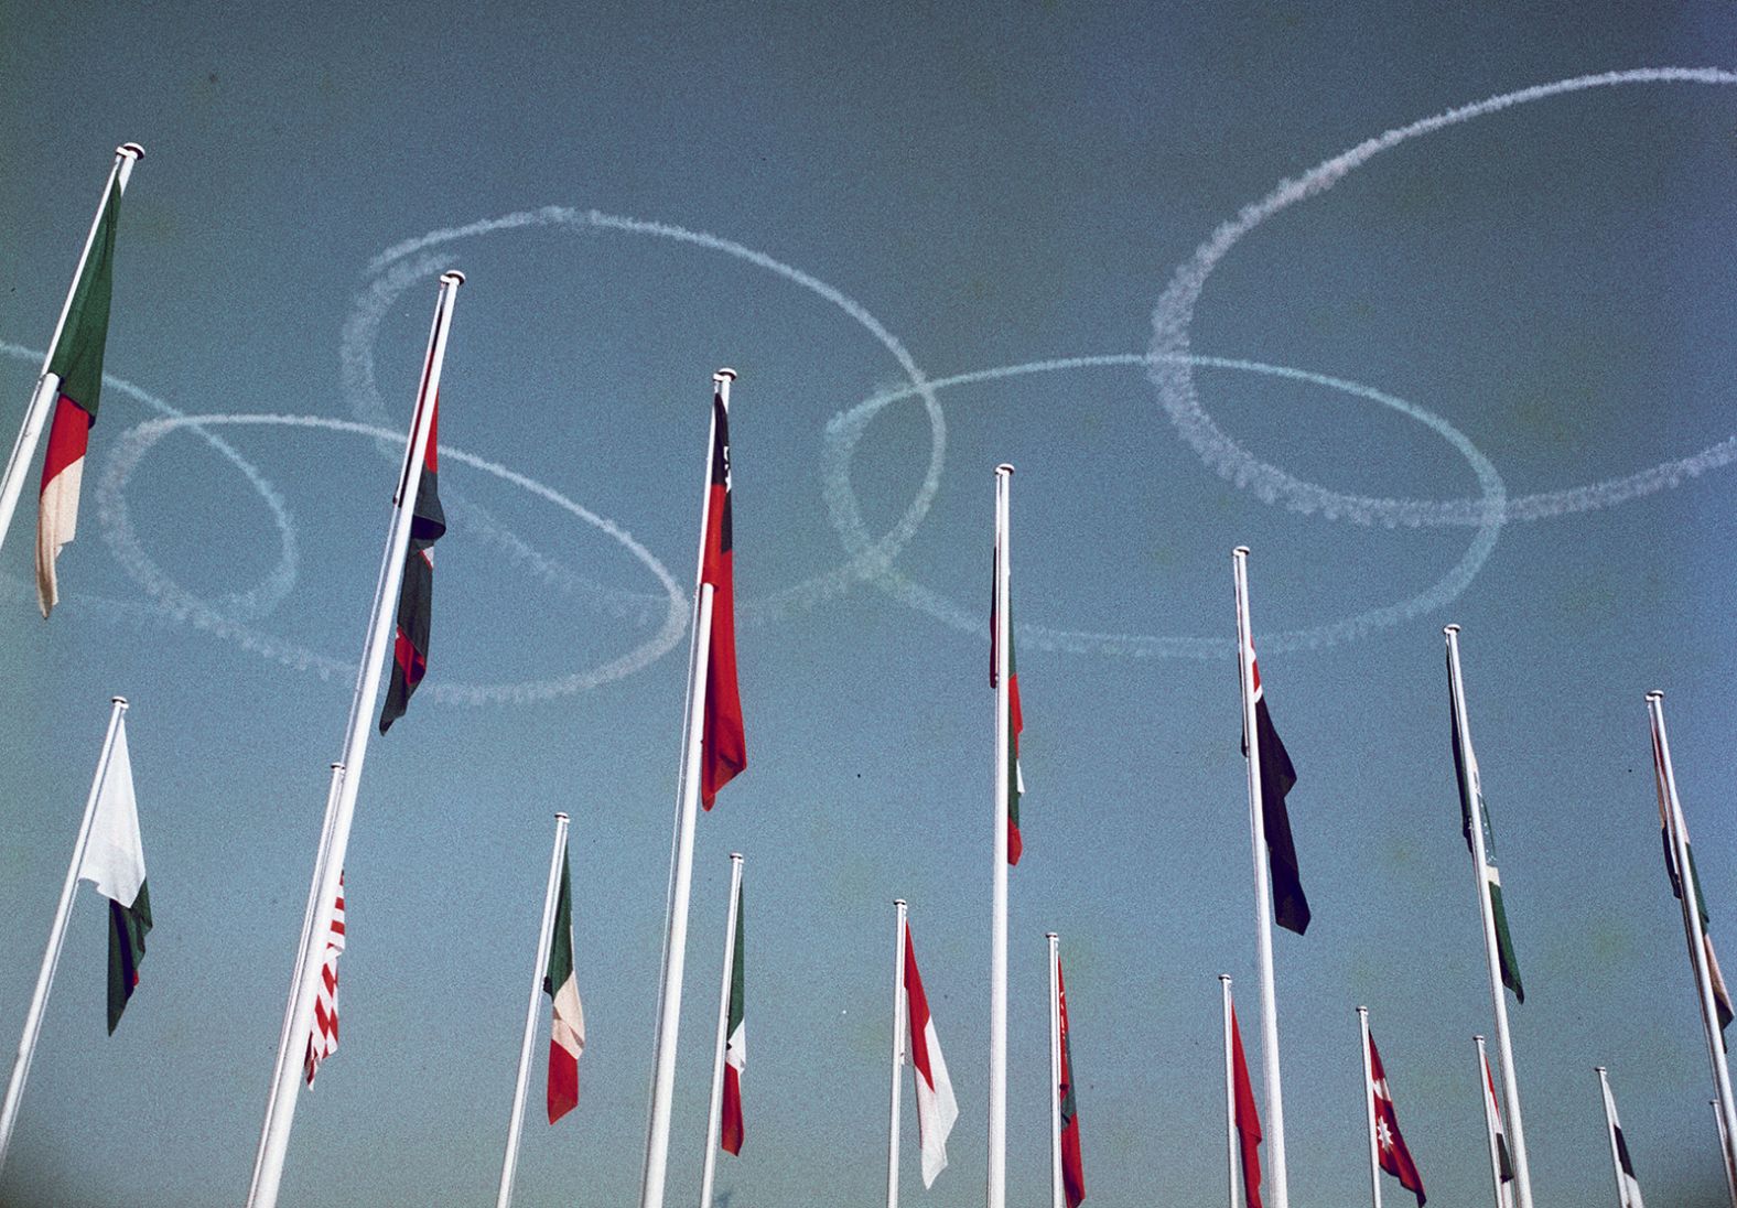
<instances>
[{"instance_id":1,"label":"drooping white flag with dark green lower part, at lower left","mask_svg":"<svg viewBox=\"0 0 1737 1208\"><path fill-rule=\"evenodd\" d=\"M97 353L101 358L101 351ZM78 876L109 900L109 1032L139 986L144 935L151 930L151 890L144 881L144 843L139 838L139 800L132 791L127 754L127 720L115 725L115 747L97 787L90 840Z\"/></svg>"}]
</instances>

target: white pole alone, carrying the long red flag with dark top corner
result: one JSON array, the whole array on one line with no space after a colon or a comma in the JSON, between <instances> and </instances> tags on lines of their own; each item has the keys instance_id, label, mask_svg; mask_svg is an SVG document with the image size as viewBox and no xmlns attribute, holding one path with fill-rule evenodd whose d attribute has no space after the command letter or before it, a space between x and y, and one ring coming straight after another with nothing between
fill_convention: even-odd
<instances>
[{"instance_id":1,"label":"white pole alone, carrying the long red flag with dark top corner","mask_svg":"<svg viewBox=\"0 0 1737 1208\"><path fill-rule=\"evenodd\" d=\"M736 370L712 374L712 388L730 414L730 382ZM717 417L705 440L705 481L710 483L712 445ZM665 899L664 977L658 984L657 1036L653 1039L651 1107L646 1116L646 1165L639 1184L639 1208L664 1208L664 1177L669 1166L669 1114L676 1095L676 1041L681 1029L681 982L688 963L688 899L693 892L693 826L700 815L700 740L705 735L705 673L712 657L712 584L702 584L705 534L712 506L710 485L700 506L700 556L693 572L693 641L688 655L688 709L681 735L681 777L676 787L676 834L670 841L669 893Z\"/></svg>"}]
</instances>

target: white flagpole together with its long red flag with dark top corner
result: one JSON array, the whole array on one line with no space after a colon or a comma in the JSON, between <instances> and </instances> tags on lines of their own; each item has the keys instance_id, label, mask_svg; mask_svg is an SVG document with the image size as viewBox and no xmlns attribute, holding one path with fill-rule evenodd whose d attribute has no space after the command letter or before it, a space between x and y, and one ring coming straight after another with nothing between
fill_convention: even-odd
<instances>
[{"instance_id":1,"label":"white flagpole together with its long red flag with dark top corner","mask_svg":"<svg viewBox=\"0 0 1737 1208\"><path fill-rule=\"evenodd\" d=\"M736 370L712 374L712 435L705 450L705 502L700 509L700 567L693 591L693 643L688 655L688 709L676 786L676 833L670 840L665 902L664 977L658 984L653 1041L651 1107L646 1112L646 1163L641 1208L664 1208L669 1166L669 1116L676 1093L676 1039L681 980L688 961L688 899L693 890L693 827L700 805L747 767L742 697L736 690L735 525L730 480L730 384Z\"/></svg>"}]
</instances>

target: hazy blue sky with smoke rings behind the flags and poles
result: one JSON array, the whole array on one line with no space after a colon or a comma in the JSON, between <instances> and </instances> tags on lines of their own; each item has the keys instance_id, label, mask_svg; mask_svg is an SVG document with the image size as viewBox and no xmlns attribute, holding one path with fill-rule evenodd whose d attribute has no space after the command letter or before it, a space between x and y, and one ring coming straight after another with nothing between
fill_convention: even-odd
<instances>
[{"instance_id":1,"label":"hazy blue sky with smoke rings behind the flags and poles","mask_svg":"<svg viewBox=\"0 0 1737 1208\"><path fill-rule=\"evenodd\" d=\"M116 694L156 918L106 1036L80 890L0 1203L245 1196L448 268L429 673L370 746L342 1043L285 1203L493 1194L558 810L587 1050L551 1128L537 1039L516 1203L636 1201L723 365L749 768L698 824L667 1203L698 1194L730 852L747 1138L719 1203L881 1203L898 897L961 1104L924 1191L907 1076L902 1199L983 1203L1002 461L1009 1203L1047 1194L1051 930L1087 1203L1225 1203L1219 973L1259 1034L1238 544L1315 914L1275 935L1292 1203L1367 1201L1360 1005L1430 1205L1490 1203L1449 622L1537 1201L1614 1201L1607 1065L1645 1194L1725 1203L1643 700L1666 692L1713 935L1737 935L1725 5L0 23L5 431L111 149L146 148L50 621L30 492L0 546L7 1052Z\"/></svg>"}]
</instances>

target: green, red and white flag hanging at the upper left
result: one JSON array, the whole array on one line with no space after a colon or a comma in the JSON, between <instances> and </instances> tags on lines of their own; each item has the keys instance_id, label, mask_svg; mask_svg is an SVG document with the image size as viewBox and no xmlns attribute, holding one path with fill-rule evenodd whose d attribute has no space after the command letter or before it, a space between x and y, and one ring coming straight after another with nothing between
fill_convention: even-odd
<instances>
[{"instance_id":1,"label":"green, red and white flag hanging at the upper left","mask_svg":"<svg viewBox=\"0 0 1737 1208\"><path fill-rule=\"evenodd\" d=\"M42 459L42 506L36 513L36 603L47 617L61 593L54 560L78 534L78 485L85 471L90 428L97 422L102 389L102 349L108 342L109 297L115 278L115 226L120 221L120 176L109 184L102 217L73 287L61 337L49 353L49 374L59 379L49 450Z\"/></svg>"}]
</instances>

